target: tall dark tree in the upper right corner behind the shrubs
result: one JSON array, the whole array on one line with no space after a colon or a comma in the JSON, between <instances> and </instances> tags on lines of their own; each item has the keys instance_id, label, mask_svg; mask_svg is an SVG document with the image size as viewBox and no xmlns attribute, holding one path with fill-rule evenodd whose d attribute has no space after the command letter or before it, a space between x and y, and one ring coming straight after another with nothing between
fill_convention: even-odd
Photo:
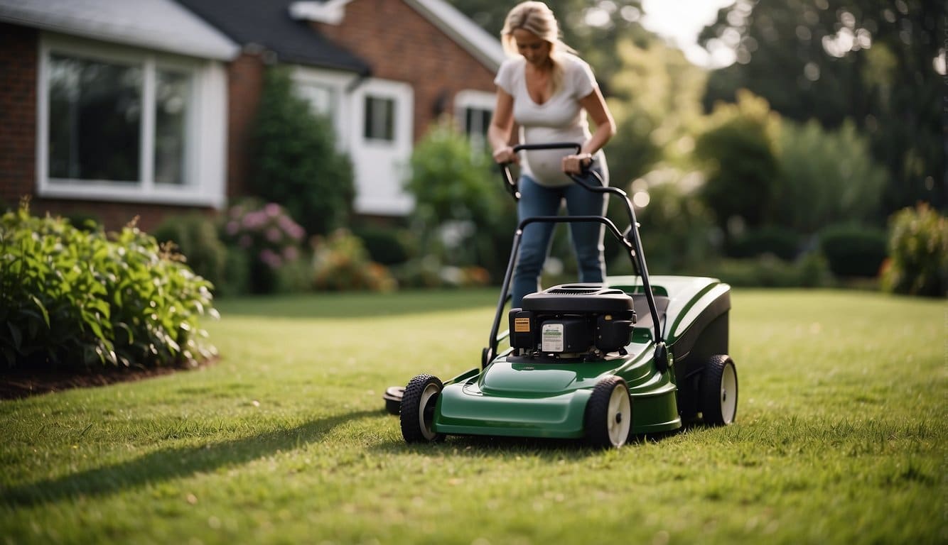
<instances>
[{"instance_id":1,"label":"tall dark tree in the upper right corner behind the shrubs","mask_svg":"<svg viewBox=\"0 0 948 545\"><path fill-rule=\"evenodd\" d=\"M917 201L944 209L943 36L939 2L738 0L700 36L738 61L711 75L705 108L746 88L786 117L828 128L850 118L889 172L886 215Z\"/></svg>"}]
</instances>

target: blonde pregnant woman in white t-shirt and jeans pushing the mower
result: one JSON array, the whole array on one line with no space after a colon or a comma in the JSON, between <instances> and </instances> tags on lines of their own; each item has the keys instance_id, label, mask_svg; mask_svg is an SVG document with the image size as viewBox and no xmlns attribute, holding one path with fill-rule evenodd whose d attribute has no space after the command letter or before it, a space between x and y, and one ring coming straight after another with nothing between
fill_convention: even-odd
<instances>
[{"instance_id":1,"label":"blonde pregnant woman in white t-shirt and jeans pushing the mower","mask_svg":"<svg viewBox=\"0 0 948 545\"><path fill-rule=\"evenodd\" d=\"M602 147L615 133L615 121L599 91L593 71L559 40L556 17L542 2L523 2L510 10L501 42L511 59L498 70L497 107L487 137L498 163L519 163L510 147L514 124L520 142L576 142L579 153L562 150L526 151L520 176L520 220L556 216L562 201L574 216L601 216L606 198L575 184L567 174L584 167L597 170L609 184ZM590 132L587 114L593 118ZM550 251L554 223L532 223L524 229L514 272L512 308L524 295L538 290L543 262ZM580 282L602 282L605 273L603 230L600 223L570 224Z\"/></svg>"}]
</instances>

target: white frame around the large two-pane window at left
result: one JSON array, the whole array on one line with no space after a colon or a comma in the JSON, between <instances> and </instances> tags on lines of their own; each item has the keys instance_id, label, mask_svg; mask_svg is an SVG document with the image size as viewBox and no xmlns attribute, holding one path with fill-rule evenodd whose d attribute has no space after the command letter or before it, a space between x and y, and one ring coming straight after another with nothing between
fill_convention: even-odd
<instances>
[{"instance_id":1,"label":"white frame around the large two-pane window at left","mask_svg":"<svg viewBox=\"0 0 948 545\"><path fill-rule=\"evenodd\" d=\"M36 172L37 194L47 198L115 202L158 202L212 206L226 204L227 72L221 62L167 55L119 45L102 44L44 33L39 45L37 78ZM139 180L50 178L49 59L52 53L102 62L137 64L142 69L142 117ZM191 102L185 132L184 184L155 184L155 79L157 68L191 74Z\"/></svg>"}]
</instances>

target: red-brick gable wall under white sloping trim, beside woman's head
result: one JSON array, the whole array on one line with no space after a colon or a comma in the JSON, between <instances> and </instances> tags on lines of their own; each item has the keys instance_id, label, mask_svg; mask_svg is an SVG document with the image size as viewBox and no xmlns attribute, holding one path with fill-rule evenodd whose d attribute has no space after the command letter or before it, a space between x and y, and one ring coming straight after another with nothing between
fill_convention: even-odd
<instances>
[{"instance_id":1,"label":"red-brick gable wall under white sloping trim, beside woman's head","mask_svg":"<svg viewBox=\"0 0 948 545\"><path fill-rule=\"evenodd\" d=\"M375 78L414 87L416 141L438 109L454 112L458 91L494 92L494 73L403 0L354 0L344 9L341 25L314 26L369 62Z\"/></svg>"}]
</instances>

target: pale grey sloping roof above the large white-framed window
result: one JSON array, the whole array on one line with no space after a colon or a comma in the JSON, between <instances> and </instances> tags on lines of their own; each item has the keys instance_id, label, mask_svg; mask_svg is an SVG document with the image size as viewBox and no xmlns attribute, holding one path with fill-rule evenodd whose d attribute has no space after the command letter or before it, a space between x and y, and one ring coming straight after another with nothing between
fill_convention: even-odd
<instances>
[{"instance_id":1,"label":"pale grey sloping roof above the large white-framed window","mask_svg":"<svg viewBox=\"0 0 948 545\"><path fill-rule=\"evenodd\" d=\"M0 0L0 21L218 61L240 52L173 0Z\"/></svg>"}]
</instances>

